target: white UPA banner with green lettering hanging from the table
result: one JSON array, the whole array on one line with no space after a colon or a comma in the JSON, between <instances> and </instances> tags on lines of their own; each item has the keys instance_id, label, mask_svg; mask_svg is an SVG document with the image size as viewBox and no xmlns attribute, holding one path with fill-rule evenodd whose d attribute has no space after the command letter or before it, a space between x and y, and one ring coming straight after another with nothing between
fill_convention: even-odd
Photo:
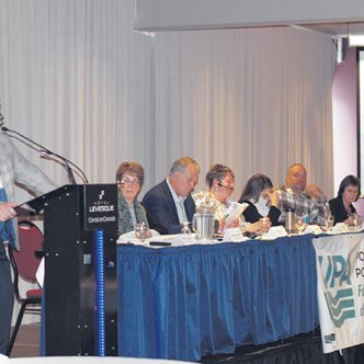
<instances>
[{"instance_id":1,"label":"white UPA banner with green lettering hanging from the table","mask_svg":"<svg viewBox=\"0 0 364 364\"><path fill-rule=\"evenodd\" d=\"M364 342L364 234L314 239L323 353Z\"/></svg>"}]
</instances>

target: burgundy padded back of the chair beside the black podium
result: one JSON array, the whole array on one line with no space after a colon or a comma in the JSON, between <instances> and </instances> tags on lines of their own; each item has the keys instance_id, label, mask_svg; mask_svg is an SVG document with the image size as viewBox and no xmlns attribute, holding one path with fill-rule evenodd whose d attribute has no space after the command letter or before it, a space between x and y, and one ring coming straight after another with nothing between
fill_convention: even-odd
<instances>
[{"instance_id":1,"label":"burgundy padded back of the chair beside the black podium","mask_svg":"<svg viewBox=\"0 0 364 364\"><path fill-rule=\"evenodd\" d=\"M36 225L27 220L18 223L18 232L20 250L12 250L15 269L24 281L35 283L35 274L41 264L35 252L43 250L44 236Z\"/></svg>"}]
</instances>

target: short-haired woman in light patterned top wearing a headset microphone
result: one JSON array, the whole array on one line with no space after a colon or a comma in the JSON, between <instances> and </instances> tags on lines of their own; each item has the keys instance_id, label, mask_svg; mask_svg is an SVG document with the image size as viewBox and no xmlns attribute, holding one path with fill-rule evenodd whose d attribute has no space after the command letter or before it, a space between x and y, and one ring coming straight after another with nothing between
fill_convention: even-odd
<instances>
[{"instance_id":1,"label":"short-haired woman in light patterned top wearing a headset microphone","mask_svg":"<svg viewBox=\"0 0 364 364\"><path fill-rule=\"evenodd\" d=\"M235 190L235 175L230 168L218 163L213 164L206 174L206 183L208 191L197 192L193 195L193 198L197 209L204 204L213 205L215 219L219 224L218 231L223 231L225 228L243 227L246 231L254 232L261 228L261 221L244 226L242 216L226 226L225 218L231 204L229 197Z\"/></svg>"}]
</instances>

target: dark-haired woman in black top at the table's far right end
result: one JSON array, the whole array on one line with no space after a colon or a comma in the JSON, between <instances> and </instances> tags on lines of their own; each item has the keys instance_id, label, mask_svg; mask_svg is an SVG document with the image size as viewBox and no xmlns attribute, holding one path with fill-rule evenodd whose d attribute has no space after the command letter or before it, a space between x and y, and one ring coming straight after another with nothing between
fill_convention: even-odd
<instances>
[{"instance_id":1,"label":"dark-haired woman in black top at the table's far right end","mask_svg":"<svg viewBox=\"0 0 364 364\"><path fill-rule=\"evenodd\" d=\"M330 211L333 215L333 224L345 223L354 225L356 209L353 202L357 201L361 194L361 181L354 175L346 175L340 183L338 196L329 201Z\"/></svg>"}]
</instances>

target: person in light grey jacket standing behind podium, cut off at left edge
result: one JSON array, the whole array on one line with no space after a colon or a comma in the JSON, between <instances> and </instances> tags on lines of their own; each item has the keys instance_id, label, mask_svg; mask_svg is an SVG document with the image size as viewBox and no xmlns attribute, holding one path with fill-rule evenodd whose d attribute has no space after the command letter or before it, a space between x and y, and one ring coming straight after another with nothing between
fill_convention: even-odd
<instances>
[{"instance_id":1,"label":"person in light grey jacket standing behind podium, cut off at left edge","mask_svg":"<svg viewBox=\"0 0 364 364\"><path fill-rule=\"evenodd\" d=\"M10 263L4 243L18 247L13 217L15 182L26 186L36 195L57 186L15 148L10 137L0 132L0 353L5 354L14 300Z\"/></svg>"}]
</instances>

